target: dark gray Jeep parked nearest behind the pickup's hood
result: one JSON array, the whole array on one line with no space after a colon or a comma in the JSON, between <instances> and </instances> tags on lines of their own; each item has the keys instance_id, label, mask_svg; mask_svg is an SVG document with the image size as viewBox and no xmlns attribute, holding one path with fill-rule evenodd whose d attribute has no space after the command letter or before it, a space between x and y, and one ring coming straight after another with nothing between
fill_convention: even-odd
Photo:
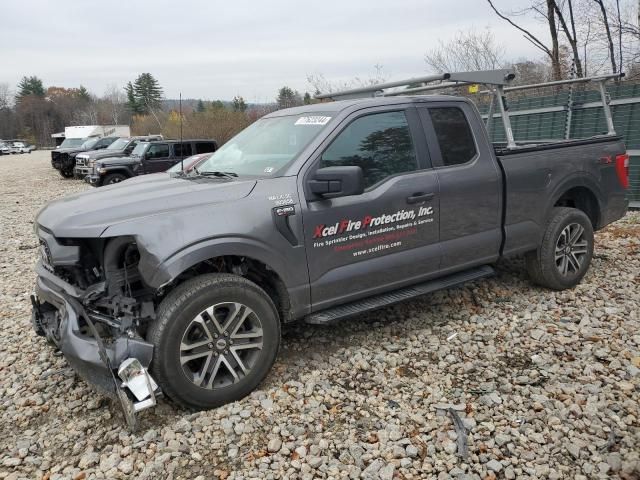
<instances>
[{"instance_id":1,"label":"dark gray Jeep parked nearest behind the pickup's hood","mask_svg":"<svg viewBox=\"0 0 640 480\"><path fill-rule=\"evenodd\" d=\"M96 160L93 170L84 179L94 187L101 187L137 175L165 172L183 158L194 153L213 152L216 147L215 140L140 142L128 157Z\"/></svg>"}]
</instances>

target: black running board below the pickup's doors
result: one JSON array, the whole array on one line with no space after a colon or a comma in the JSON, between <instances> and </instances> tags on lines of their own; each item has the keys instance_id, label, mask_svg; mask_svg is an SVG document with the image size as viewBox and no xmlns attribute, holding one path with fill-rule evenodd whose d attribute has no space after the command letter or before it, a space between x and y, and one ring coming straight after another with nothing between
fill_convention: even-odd
<instances>
[{"instance_id":1,"label":"black running board below the pickup's doors","mask_svg":"<svg viewBox=\"0 0 640 480\"><path fill-rule=\"evenodd\" d=\"M478 278L489 277L494 273L493 268L488 265L483 265L482 267L454 273L425 283L411 285L410 287L394 290L393 292L375 295L363 300L356 300L355 302L345 305L339 305L317 313L312 313L307 315L304 320L306 323L314 325L326 325L346 317L358 315L359 313L369 312L410 298L435 292L436 290L453 287L471 280L477 280Z\"/></svg>"}]
</instances>

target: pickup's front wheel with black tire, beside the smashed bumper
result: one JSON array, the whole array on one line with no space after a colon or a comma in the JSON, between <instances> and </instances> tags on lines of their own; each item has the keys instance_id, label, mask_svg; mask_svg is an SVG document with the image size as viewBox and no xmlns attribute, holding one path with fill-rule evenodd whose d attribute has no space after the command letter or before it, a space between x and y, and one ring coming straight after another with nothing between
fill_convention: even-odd
<instances>
[{"instance_id":1,"label":"pickup's front wheel with black tire, beside the smashed bumper","mask_svg":"<svg viewBox=\"0 0 640 480\"><path fill-rule=\"evenodd\" d=\"M252 326L251 330L245 329L246 325L243 326L245 320L241 320L240 331L238 331L238 327L235 327L235 331L230 336L223 334L220 334L219 337L215 336L217 340L213 340L208 345L203 344L203 342L208 342L204 336L196 336L193 340L188 338L193 333L194 325L196 330L199 330L196 333L206 335L204 329L199 328L200 324L204 327L206 322L207 331L211 334L218 326L226 323L226 317L218 317L214 307L231 304L229 302L237 302L236 305L240 304L245 308L245 310L238 310L242 311L242 315L239 315L237 311L233 315L229 315L230 323L234 317L244 318L246 316L246 321L255 322L257 319L261 328L258 330ZM207 311L212 311L213 316L203 316ZM214 408L245 397L264 380L278 354L280 320L276 307L264 290L246 278L225 273L207 274L187 280L167 295L156 313L156 320L151 324L147 333L147 340L154 345L153 360L150 366L151 375L162 391L182 406L195 409ZM216 319L215 324L211 318ZM237 345L235 346L224 347L228 350L224 350L219 345L220 342L229 341L230 338L242 335L254 335L252 338L255 338L255 332L258 331L261 335L260 348L239 350L243 348L242 345L238 345L243 339L236 340ZM234 333L236 337L234 337ZM185 338L189 342L188 347L198 343L202 344L199 347L200 353L198 353L201 356L187 363L184 363L184 359L195 356L192 355L195 348L193 350L185 349ZM247 343L257 342L257 340L249 338L246 340ZM193 343L191 343L192 341ZM233 344L233 341L231 343ZM207 351L207 349L209 350ZM186 350L189 353L185 354ZM202 353L205 351L207 352ZM202 355L207 356L203 357ZM239 355L246 356L242 357L240 362L235 362ZM248 355L251 357L249 358ZM193 372L193 364L200 361L200 358L202 358L200 364L202 366L196 366L195 370L198 372ZM239 369L242 366L243 368L240 370L244 370L246 365L249 365L250 368L245 373L235 370L236 376L239 378L234 380L231 377L233 375L232 368L229 368L230 361L235 362L235 367ZM222 381L225 374L226 384ZM220 381L218 381L217 375L222 378ZM198 380L201 382L200 385L197 384Z\"/></svg>"}]
</instances>

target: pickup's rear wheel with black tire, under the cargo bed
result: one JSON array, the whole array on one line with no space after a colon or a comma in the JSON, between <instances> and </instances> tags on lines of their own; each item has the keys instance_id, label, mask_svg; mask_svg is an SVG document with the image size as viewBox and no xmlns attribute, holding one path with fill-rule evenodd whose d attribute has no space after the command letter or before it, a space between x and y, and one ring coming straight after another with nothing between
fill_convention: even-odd
<instances>
[{"instance_id":1,"label":"pickup's rear wheel with black tire, under the cargo bed","mask_svg":"<svg viewBox=\"0 0 640 480\"><path fill-rule=\"evenodd\" d=\"M571 240L573 237L575 240ZM589 217L575 208L554 207L540 247L525 255L525 263L534 283L565 290L580 283L592 257L593 226Z\"/></svg>"}]
</instances>

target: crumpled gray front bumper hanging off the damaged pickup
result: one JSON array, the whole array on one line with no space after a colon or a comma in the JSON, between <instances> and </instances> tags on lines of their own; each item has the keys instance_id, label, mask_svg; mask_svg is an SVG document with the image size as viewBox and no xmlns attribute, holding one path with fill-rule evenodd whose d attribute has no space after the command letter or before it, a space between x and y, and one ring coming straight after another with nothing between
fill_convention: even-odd
<instances>
[{"instance_id":1,"label":"crumpled gray front bumper hanging off the damaged pickup","mask_svg":"<svg viewBox=\"0 0 640 480\"><path fill-rule=\"evenodd\" d=\"M103 393L116 395L114 374L100 354L99 342L86 327L87 312L82 305L84 291L58 278L42 262L36 266L32 319L34 329L55 343L69 364L89 384ZM153 345L139 338L120 335L102 339L104 353L115 370L127 358L136 358L147 368Z\"/></svg>"}]
</instances>

